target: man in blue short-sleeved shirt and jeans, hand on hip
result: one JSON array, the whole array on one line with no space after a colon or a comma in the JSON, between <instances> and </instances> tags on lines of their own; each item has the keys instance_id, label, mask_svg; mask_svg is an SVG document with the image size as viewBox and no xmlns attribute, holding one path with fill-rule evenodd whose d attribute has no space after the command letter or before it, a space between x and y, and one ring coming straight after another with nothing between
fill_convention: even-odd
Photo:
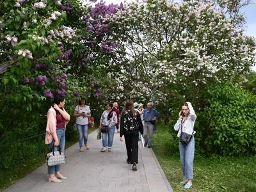
<instances>
[{"instance_id":1,"label":"man in blue short-sleeved shirt and jeans, hand on hip","mask_svg":"<svg viewBox=\"0 0 256 192\"><path fill-rule=\"evenodd\" d=\"M152 146L152 135L154 124L156 124L156 118L159 118L160 113L156 109L152 108L152 103L148 102L147 109L143 111L143 120L144 120L144 135L145 135L145 145L144 147L151 148ZM148 134L148 136L147 136Z\"/></svg>"}]
</instances>

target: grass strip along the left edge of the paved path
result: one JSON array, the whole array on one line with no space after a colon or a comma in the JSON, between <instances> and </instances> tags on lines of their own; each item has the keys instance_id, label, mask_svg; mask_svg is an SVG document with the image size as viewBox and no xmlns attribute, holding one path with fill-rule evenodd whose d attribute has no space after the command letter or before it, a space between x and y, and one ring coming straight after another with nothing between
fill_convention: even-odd
<instances>
[{"instance_id":1,"label":"grass strip along the left edge of the paved path","mask_svg":"<svg viewBox=\"0 0 256 192\"><path fill-rule=\"evenodd\" d=\"M88 129L88 134L95 131L96 129L97 128ZM77 142L77 139L74 141L66 141L65 148L67 149L68 147L71 147ZM26 175L36 170L36 168L45 164L45 153L32 159L28 159L25 163L22 163L14 168L5 171L0 170L0 191L3 191L4 189L10 187L18 180L24 178Z\"/></svg>"}]
</instances>

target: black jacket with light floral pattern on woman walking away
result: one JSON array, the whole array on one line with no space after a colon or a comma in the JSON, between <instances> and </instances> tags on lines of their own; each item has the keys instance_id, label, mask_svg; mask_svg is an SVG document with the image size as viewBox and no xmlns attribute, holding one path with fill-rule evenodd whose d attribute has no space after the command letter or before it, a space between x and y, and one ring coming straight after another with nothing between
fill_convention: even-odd
<instances>
[{"instance_id":1,"label":"black jacket with light floral pattern on woman walking away","mask_svg":"<svg viewBox=\"0 0 256 192\"><path fill-rule=\"evenodd\" d=\"M143 134L143 125L138 111L136 111L136 116L132 115L132 111L124 111L120 120L120 137L122 137L124 134L139 131L141 134Z\"/></svg>"}]
</instances>

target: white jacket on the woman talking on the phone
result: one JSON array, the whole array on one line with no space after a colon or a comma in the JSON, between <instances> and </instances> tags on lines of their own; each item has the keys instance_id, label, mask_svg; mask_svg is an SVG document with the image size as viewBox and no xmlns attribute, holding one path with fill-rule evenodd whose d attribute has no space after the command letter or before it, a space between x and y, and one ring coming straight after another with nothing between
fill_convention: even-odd
<instances>
[{"instance_id":1,"label":"white jacket on the woman talking on the phone","mask_svg":"<svg viewBox=\"0 0 256 192\"><path fill-rule=\"evenodd\" d=\"M192 131L194 129L194 125L195 125L195 120L196 120L196 114L195 111L192 107L191 104L188 104L188 109L189 109L189 116L188 118L185 120L184 124L182 124L182 132L186 132L188 134L192 134ZM180 132L181 132L181 118L179 118L179 120L177 120L177 123L174 125L174 129L175 131L178 131L177 136L180 137ZM196 132L193 131L193 134L195 134Z\"/></svg>"}]
</instances>

